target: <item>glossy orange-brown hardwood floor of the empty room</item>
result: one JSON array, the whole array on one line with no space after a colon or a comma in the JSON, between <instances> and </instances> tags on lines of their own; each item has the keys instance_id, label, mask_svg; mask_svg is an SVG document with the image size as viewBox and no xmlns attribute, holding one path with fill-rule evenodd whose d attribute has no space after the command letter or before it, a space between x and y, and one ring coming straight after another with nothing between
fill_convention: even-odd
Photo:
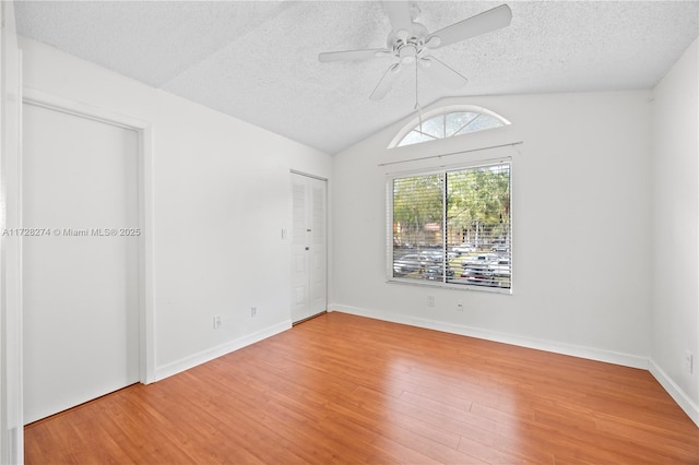
<instances>
[{"instance_id":1,"label":"glossy orange-brown hardwood floor of the empty room","mask_svg":"<svg viewBox=\"0 0 699 465\"><path fill-rule=\"evenodd\" d=\"M25 428L27 464L699 463L643 370L328 313Z\"/></svg>"}]
</instances>

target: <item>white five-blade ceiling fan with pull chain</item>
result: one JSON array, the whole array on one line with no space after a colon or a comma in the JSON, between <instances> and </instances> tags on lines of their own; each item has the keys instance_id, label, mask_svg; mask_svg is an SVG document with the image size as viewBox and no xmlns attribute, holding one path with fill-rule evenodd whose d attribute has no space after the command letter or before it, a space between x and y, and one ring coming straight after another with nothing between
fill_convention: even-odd
<instances>
[{"instance_id":1,"label":"white five-blade ceiling fan with pull chain","mask_svg":"<svg viewBox=\"0 0 699 465\"><path fill-rule=\"evenodd\" d=\"M462 87L467 80L433 57L430 51L509 26L512 20L510 8L501 4L430 34L424 25L415 21L419 13L416 4L411 5L406 1L383 1L383 10L392 27L386 48L329 51L318 55L318 60L321 62L368 60L376 57L396 58L398 61L386 70L369 96L374 100L383 98L401 70L412 63L415 63L415 67L419 64L429 76L449 88Z\"/></svg>"}]
</instances>

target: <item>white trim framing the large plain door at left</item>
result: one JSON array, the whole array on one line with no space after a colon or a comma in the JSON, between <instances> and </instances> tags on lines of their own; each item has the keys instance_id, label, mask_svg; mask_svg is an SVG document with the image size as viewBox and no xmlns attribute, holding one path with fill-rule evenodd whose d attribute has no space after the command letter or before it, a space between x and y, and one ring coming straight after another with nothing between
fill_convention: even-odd
<instances>
[{"instance_id":1,"label":"white trim framing the large plain door at left","mask_svg":"<svg viewBox=\"0 0 699 465\"><path fill-rule=\"evenodd\" d=\"M22 102L68 115L130 129L139 134L138 153L138 214L142 234L139 238L139 380L143 384L155 381L155 318L154 318L154 248L153 248L153 124L128 115L82 104L32 87L24 87ZM20 160L21 163L21 160ZM19 206L22 212L22 179L17 180ZM23 220L20 217L20 225ZM20 226L22 227L22 226ZM22 243L20 241L20 261ZM22 263L21 263L22 264ZM21 270L21 267L20 267ZM22 288L22 275L17 277ZM20 310L22 313L22 309Z\"/></svg>"}]
</instances>

